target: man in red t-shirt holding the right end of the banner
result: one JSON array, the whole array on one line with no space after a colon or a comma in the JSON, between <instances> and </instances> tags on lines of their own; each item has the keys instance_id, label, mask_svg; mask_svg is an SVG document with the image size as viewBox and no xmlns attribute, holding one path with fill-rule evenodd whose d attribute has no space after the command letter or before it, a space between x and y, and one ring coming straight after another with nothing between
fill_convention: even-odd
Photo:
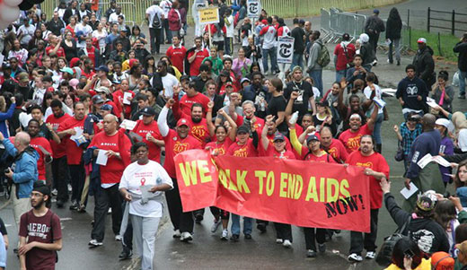
<instances>
[{"instance_id":1,"label":"man in red t-shirt holding the right end of the banner","mask_svg":"<svg viewBox=\"0 0 467 270\"><path fill-rule=\"evenodd\" d=\"M377 110L377 109L376 109ZM378 211L383 202L383 190L380 186L381 179L389 179L389 165L383 155L374 152L374 140L371 135L363 135L360 139L358 151L348 155L347 163L358 167L364 167L365 174L370 180L370 233L365 233L363 240L360 231L350 232L350 255L349 260L362 261L362 250L366 249L366 258L375 257L376 232L378 228Z\"/></svg>"}]
</instances>

